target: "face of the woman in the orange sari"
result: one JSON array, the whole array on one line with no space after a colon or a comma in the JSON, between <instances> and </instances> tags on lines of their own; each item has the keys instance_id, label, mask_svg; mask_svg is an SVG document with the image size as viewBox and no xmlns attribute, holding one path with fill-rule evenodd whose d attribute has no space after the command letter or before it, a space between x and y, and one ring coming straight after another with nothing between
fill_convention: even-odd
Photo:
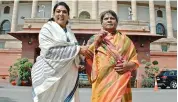
<instances>
[{"instance_id":1,"label":"face of the woman in the orange sari","mask_svg":"<svg viewBox=\"0 0 178 102\"><path fill-rule=\"evenodd\" d=\"M102 20L102 27L104 30L113 32L117 27L117 20L110 13L106 13Z\"/></svg>"}]
</instances>

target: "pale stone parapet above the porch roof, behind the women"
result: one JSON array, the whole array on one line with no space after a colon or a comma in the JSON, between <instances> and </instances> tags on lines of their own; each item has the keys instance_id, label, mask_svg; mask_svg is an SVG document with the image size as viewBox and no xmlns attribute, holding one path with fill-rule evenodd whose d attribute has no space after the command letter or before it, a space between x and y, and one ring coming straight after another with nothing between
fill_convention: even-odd
<instances>
[{"instance_id":1,"label":"pale stone parapet above the porch roof, behind the women","mask_svg":"<svg viewBox=\"0 0 178 102\"><path fill-rule=\"evenodd\" d=\"M47 18L26 18L23 28L41 28L47 21ZM69 26L71 29L101 29L99 19L70 19ZM149 32L148 22L144 21L119 21L117 29Z\"/></svg>"}]
</instances>

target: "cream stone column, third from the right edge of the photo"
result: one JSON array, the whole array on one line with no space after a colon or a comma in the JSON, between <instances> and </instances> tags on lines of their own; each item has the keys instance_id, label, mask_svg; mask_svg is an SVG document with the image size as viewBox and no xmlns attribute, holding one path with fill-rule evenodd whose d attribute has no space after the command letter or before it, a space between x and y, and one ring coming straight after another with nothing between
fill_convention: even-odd
<instances>
[{"instance_id":1,"label":"cream stone column, third from the right edge of the photo","mask_svg":"<svg viewBox=\"0 0 178 102\"><path fill-rule=\"evenodd\" d=\"M132 20L136 21L137 20L137 2L136 2L136 0L131 1L131 6L132 6Z\"/></svg>"}]
</instances>

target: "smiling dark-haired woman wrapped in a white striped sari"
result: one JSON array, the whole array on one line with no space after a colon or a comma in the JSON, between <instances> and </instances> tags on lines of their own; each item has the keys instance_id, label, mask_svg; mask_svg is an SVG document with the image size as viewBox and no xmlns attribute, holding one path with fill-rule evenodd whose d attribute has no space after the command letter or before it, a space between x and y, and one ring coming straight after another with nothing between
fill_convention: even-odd
<instances>
[{"instance_id":1,"label":"smiling dark-haired woman wrapped in a white striped sari","mask_svg":"<svg viewBox=\"0 0 178 102\"><path fill-rule=\"evenodd\" d=\"M32 68L34 102L79 102L78 54L85 47L66 26L70 8L64 2L54 6L53 18L39 33L40 56Z\"/></svg>"}]
</instances>

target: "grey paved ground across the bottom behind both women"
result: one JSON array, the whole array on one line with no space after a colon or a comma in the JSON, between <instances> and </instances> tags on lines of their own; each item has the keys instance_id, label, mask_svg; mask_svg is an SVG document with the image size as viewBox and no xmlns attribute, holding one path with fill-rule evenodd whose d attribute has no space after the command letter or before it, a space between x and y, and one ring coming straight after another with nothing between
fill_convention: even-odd
<instances>
[{"instance_id":1,"label":"grey paved ground across the bottom behind both women","mask_svg":"<svg viewBox=\"0 0 178 102\"><path fill-rule=\"evenodd\" d=\"M159 89L154 92L152 88L133 90L133 102L176 102L176 89ZM80 102L90 102L91 88L79 89ZM0 81L0 102L32 102L31 87L11 86Z\"/></svg>"}]
</instances>

